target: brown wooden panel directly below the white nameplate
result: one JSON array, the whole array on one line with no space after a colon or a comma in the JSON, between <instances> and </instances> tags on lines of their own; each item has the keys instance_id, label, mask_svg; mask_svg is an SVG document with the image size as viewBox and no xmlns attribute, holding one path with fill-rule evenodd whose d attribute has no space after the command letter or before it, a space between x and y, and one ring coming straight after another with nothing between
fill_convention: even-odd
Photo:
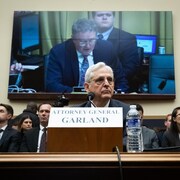
<instances>
[{"instance_id":1,"label":"brown wooden panel directly below the white nameplate","mask_svg":"<svg viewBox=\"0 0 180 180\"><path fill-rule=\"evenodd\" d=\"M48 128L48 152L123 151L122 128Z\"/></svg>"}]
</instances>

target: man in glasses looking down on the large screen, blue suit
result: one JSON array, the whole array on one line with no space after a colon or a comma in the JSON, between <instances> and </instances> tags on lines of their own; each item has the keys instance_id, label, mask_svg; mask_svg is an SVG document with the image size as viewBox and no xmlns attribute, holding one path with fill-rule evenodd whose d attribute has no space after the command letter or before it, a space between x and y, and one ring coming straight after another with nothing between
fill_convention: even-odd
<instances>
[{"instance_id":1,"label":"man in glasses looking down on the large screen, blue suit","mask_svg":"<svg viewBox=\"0 0 180 180\"><path fill-rule=\"evenodd\" d=\"M46 91L70 93L74 86L82 87L86 69L100 61L112 67L115 89L127 92L128 82L112 44L97 40L97 27L93 20L78 19L72 26L72 38L50 50Z\"/></svg>"}]
</instances>

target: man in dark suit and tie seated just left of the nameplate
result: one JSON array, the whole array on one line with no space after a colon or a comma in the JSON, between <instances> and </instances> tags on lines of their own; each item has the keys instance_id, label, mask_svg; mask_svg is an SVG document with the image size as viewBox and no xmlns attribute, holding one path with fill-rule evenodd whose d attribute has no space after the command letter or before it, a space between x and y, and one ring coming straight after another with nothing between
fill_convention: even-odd
<instances>
[{"instance_id":1,"label":"man in dark suit and tie seated just left of the nameplate","mask_svg":"<svg viewBox=\"0 0 180 180\"><path fill-rule=\"evenodd\" d=\"M20 152L40 152L41 137L44 131L47 134L47 129L45 130L44 128L48 128L51 107L52 106L49 103L42 103L38 106L40 125L24 133L20 146ZM45 143L47 143L47 141ZM46 150L43 152L45 151Z\"/></svg>"}]
</instances>

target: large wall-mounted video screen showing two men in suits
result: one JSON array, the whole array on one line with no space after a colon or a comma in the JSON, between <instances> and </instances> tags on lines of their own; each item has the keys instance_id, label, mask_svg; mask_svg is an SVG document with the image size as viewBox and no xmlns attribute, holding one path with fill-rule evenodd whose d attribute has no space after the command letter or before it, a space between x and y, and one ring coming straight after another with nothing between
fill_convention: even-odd
<instances>
[{"instance_id":1,"label":"large wall-mounted video screen showing two men in suits","mask_svg":"<svg viewBox=\"0 0 180 180\"><path fill-rule=\"evenodd\" d=\"M93 39L73 38L74 24L84 18L97 26ZM97 19L102 20L102 25ZM109 25L112 26L108 29ZM100 34L102 40L98 39ZM40 99L47 99L46 94L56 97L67 94L73 99L77 94L83 96L86 92L79 86L82 54L76 49L78 44L86 50L94 46L88 54L89 65L104 61L113 68L117 98L136 94L174 99L175 76L174 91L166 93L152 91L157 87L152 87L149 77L151 56L159 54L160 46L165 49L164 56L173 55L173 43L171 11L15 11L8 98L18 99L20 94L24 98L38 95ZM111 50L113 59L109 56ZM114 66L114 62L121 64L125 81L119 79L119 66ZM16 63L21 65L19 71L12 68ZM27 94L31 96L25 96Z\"/></svg>"}]
</instances>

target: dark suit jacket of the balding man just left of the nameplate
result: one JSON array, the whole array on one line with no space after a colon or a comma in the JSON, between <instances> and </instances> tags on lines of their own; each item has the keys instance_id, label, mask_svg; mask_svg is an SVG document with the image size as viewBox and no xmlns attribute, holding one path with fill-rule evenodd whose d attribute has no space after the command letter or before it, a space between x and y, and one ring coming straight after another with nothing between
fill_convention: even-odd
<instances>
[{"instance_id":1,"label":"dark suit jacket of the balding man just left of the nameplate","mask_svg":"<svg viewBox=\"0 0 180 180\"><path fill-rule=\"evenodd\" d=\"M34 127L24 132L20 152L37 152L39 127Z\"/></svg>"}]
</instances>

